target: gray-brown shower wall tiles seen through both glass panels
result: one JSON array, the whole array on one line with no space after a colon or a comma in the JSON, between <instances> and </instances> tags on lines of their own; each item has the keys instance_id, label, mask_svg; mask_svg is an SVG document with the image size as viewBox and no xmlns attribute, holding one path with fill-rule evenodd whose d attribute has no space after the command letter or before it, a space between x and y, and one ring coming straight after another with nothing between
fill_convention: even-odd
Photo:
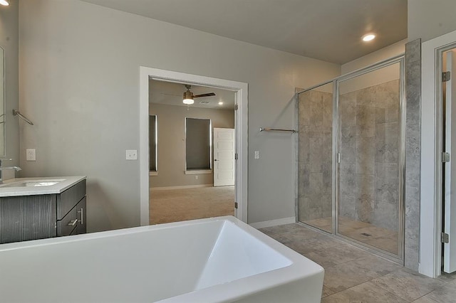
<instances>
[{"instance_id":1,"label":"gray-brown shower wall tiles seen through both glass panels","mask_svg":"<svg viewBox=\"0 0 456 303\"><path fill-rule=\"evenodd\" d=\"M343 94L339 106L339 214L397 230L399 80ZM332 216L332 122L332 93L299 95L301 222Z\"/></svg>"}]
</instances>

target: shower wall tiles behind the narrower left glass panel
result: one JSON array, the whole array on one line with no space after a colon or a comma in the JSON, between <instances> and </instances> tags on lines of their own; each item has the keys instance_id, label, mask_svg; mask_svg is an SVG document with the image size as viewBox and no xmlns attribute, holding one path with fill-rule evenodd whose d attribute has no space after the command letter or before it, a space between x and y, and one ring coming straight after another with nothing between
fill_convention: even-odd
<instances>
[{"instance_id":1,"label":"shower wall tiles behind the narrower left glass panel","mask_svg":"<svg viewBox=\"0 0 456 303\"><path fill-rule=\"evenodd\" d=\"M332 216L333 94L299 95L298 218Z\"/></svg>"}]
</instances>

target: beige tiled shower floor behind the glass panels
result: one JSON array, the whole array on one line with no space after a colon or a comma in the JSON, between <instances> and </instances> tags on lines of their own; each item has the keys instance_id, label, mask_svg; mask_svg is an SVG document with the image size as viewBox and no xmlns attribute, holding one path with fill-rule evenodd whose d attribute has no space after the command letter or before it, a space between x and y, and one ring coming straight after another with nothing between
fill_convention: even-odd
<instances>
[{"instance_id":1,"label":"beige tiled shower floor behind the glass panels","mask_svg":"<svg viewBox=\"0 0 456 303\"><path fill-rule=\"evenodd\" d=\"M306 220L304 223L321 230L326 230L328 233L331 233L333 230L333 219L331 217ZM338 224L338 232L341 235L398 255L397 231L379 228L370 223L356 221L342 216L339 217Z\"/></svg>"}]
</instances>

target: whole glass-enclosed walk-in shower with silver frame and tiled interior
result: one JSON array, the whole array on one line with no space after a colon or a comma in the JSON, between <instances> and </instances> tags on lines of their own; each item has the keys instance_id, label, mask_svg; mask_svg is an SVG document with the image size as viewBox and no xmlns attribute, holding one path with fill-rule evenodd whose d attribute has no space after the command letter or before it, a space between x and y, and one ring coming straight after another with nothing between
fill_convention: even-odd
<instances>
[{"instance_id":1,"label":"whole glass-enclosed walk-in shower with silver frame and tiled interior","mask_svg":"<svg viewBox=\"0 0 456 303\"><path fill-rule=\"evenodd\" d=\"M403 260L403 56L296 94L297 220Z\"/></svg>"}]
</instances>

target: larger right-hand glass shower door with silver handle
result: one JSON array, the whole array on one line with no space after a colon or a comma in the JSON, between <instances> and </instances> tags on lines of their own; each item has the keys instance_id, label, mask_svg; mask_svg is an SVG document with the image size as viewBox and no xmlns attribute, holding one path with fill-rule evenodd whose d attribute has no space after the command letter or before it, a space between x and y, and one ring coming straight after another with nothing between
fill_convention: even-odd
<instances>
[{"instance_id":1,"label":"larger right-hand glass shower door with silver handle","mask_svg":"<svg viewBox=\"0 0 456 303\"><path fill-rule=\"evenodd\" d=\"M338 82L336 233L400 255L400 63Z\"/></svg>"}]
</instances>

